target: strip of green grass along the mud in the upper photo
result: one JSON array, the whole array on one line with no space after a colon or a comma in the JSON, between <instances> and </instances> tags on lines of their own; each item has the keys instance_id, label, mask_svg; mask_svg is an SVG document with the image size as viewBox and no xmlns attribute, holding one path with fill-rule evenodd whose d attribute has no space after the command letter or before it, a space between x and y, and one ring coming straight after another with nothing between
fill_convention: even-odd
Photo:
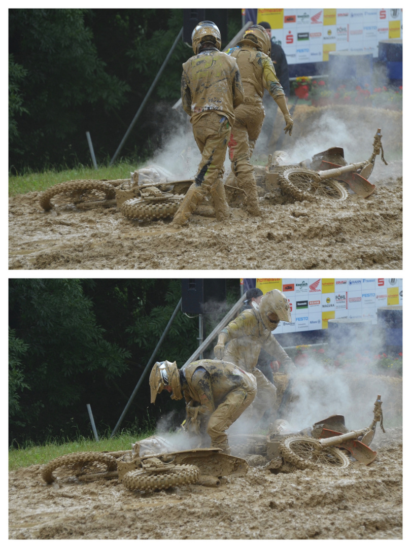
<instances>
[{"instance_id":1,"label":"strip of green grass along the mud in the upper photo","mask_svg":"<svg viewBox=\"0 0 411 548\"><path fill-rule=\"evenodd\" d=\"M49 169L42 173L26 172L22 175L9 173L9 196L26 192L42 192L59 182L74 179L129 179L130 173L135 169L138 169L138 165L124 161L111 167L102 166L98 169L78 165L76 168L61 171Z\"/></svg>"}]
</instances>

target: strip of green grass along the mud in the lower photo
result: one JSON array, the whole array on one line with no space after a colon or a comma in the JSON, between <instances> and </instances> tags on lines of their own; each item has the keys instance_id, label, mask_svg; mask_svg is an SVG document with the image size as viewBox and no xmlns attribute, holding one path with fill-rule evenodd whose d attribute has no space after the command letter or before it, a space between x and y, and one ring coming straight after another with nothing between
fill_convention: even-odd
<instances>
[{"instance_id":1,"label":"strip of green grass along the mud in the lower photo","mask_svg":"<svg viewBox=\"0 0 411 548\"><path fill-rule=\"evenodd\" d=\"M49 460L55 459L68 453L78 453L82 451L127 451L132 448L132 443L139 439L146 438L153 434L147 431L134 435L132 432L122 432L121 434L110 438L109 436L100 438L99 442L94 439L79 438L76 441L66 443L50 442L44 446L32 446L26 449L9 449L9 470L16 470L32 464L45 464Z\"/></svg>"}]
</instances>

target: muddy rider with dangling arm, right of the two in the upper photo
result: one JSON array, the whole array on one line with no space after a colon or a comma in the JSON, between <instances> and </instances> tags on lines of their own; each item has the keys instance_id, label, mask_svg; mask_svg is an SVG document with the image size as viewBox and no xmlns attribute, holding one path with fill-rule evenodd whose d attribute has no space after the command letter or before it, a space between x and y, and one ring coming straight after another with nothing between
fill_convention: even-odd
<instances>
[{"instance_id":1,"label":"muddy rider with dangling arm, right of the two in the upper photo","mask_svg":"<svg viewBox=\"0 0 411 548\"><path fill-rule=\"evenodd\" d=\"M284 131L291 135L293 129L293 119L288 111L286 95L276 76L270 52L270 38L260 25L250 26L238 44L227 51L237 61L245 95L243 103L236 109L236 120L229 141L229 157L237 184L246 193L246 209L250 215L260 215L250 157L264 122L264 89L268 90L283 113L286 121ZM230 179L232 177L227 180L227 184L232 184Z\"/></svg>"}]
</instances>

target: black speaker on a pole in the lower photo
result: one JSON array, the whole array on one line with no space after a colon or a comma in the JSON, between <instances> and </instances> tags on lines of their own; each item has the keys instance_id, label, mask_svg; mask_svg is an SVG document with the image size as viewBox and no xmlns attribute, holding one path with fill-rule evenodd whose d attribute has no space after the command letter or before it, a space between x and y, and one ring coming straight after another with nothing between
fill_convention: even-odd
<instances>
[{"instance_id":1,"label":"black speaker on a pole in the lower photo","mask_svg":"<svg viewBox=\"0 0 411 548\"><path fill-rule=\"evenodd\" d=\"M187 314L207 313L207 304L226 299L225 279L188 278L181 280L181 310Z\"/></svg>"}]
</instances>

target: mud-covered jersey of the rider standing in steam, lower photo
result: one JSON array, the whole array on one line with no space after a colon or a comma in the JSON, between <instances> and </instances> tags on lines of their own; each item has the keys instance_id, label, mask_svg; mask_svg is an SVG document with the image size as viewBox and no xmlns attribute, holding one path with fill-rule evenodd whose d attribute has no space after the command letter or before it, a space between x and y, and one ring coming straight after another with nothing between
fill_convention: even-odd
<instances>
[{"instance_id":1,"label":"mud-covered jersey of the rider standing in steam, lower photo","mask_svg":"<svg viewBox=\"0 0 411 548\"><path fill-rule=\"evenodd\" d=\"M250 373L258 362L261 348L275 356L285 370L294 368L292 359L264 326L260 312L254 308L244 310L222 329L218 342L226 345L224 361L231 361Z\"/></svg>"}]
</instances>

